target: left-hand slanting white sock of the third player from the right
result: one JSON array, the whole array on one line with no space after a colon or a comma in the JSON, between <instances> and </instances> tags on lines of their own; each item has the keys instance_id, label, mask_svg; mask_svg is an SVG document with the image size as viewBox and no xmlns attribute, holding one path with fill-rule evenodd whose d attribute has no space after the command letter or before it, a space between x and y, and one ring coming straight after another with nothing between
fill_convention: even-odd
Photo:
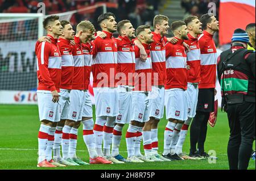
<instances>
[{"instance_id":1,"label":"left-hand slanting white sock of the third player from the right","mask_svg":"<svg viewBox=\"0 0 256 181\"><path fill-rule=\"evenodd\" d=\"M163 155L167 155L168 153L170 153L170 145L172 142L172 134L174 132L174 128L175 128L176 124L172 123L170 121L168 121L167 125L166 125L166 129L164 131L164 151L163 151Z\"/></svg>"}]
</instances>

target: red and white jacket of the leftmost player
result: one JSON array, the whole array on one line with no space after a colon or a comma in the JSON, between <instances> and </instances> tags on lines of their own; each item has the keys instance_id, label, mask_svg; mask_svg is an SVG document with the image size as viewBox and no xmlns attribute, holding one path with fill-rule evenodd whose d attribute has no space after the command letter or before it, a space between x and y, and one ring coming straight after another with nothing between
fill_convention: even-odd
<instances>
[{"instance_id":1,"label":"red and white jacket of the leftmost player","mask_svg":"<svg viewBox=\"0 0 256 181\"><path fill-rule=\"evenodd\" d=\"M57 39L47 35L51 43L36 43L38 90L60 92L61 55Z\"/></svg>"}]
</instances>

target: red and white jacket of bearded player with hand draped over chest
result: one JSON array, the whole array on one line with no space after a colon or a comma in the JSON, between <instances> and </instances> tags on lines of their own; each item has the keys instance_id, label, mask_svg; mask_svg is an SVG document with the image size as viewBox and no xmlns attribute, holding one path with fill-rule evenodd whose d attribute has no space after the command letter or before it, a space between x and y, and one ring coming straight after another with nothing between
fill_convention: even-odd
<instances>
[{"instance_id":1,"label":"red and white jacket of bearded player with hand draped over chest","mask_svg":"<svg viewBox=\"0 0 256 181\"><path fill-rule=\"evenodd\" d=\"M152 90L152 62L150 57L150 45L142 43L147 53L147 60L141 61L140 49L135 45L135 76L134 91Z\"/></svg>"}]
</instances>

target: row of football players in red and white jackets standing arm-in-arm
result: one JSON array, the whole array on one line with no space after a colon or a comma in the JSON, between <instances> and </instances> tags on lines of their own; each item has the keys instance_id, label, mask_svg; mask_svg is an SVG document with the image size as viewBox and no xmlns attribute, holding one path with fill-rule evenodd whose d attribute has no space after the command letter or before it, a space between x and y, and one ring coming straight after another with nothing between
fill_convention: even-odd
<instances>
[{"instance_id":1,"label":"row of football players in red and white jackets standing arm-in-arm","mask_svg":"<svg viewBox=\"0 0 256 181\"><path fill-rule=\"evenodd\" d=\"M182 146L196 113L199 82L204 79L203 85L208 85L216 77L214 73L204 75L208 78L200 74L199 41L201 39L205 45L201 48L201 52L206 49L205 56L216 56L210 35L218 29L216 18L206 14L201 22L196 16L190 16L185 22L173 22L171 30L175 37L169 39L165 35L170 27L164 15L155 16L154 32L149 26L138 27L137 39L133 25L128 20L117 24L112 13L100 15L98 23L102 32L93 40L95 29L87 20L77 25L76 34L72 25L65 20L60 22L58 16L48 16L43 22L48 35L39 39L35 48L41 121L38 167L88 164L76 156L77 131L81 123L90 164L201 159L196 153L191 157L183 154ZM197 38L203 33L202 24L208 31ZM115 31L119 33L117 39L113 37ZM204 71L214 69L214 64L215 60L204 62ZM91 70L96 99L95 124L88 94ZM112 71L126 77L137 73L135 82L127 80L118 88L113 87ZM157 74L156 78L152 73ZM144 79L138 78L146 74ZM134 86L138 86L138 90L134 90ZM163 117L164 105L168 123L164 131L164 152L160 155L158 123ZM207 110L208 105L204 108ZM125 124L129 124L127 159L119 154ZM140 151L142 137L145 155Z\"/></svg>"}]
</instances>

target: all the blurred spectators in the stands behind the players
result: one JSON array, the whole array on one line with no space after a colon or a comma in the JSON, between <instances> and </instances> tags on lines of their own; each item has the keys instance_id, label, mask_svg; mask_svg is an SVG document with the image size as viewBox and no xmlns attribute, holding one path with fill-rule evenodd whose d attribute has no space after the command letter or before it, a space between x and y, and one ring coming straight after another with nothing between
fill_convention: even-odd
<instances>
[{"instance_id":1,"label":"all the blurred spectators in the stands behind the players","mask_svg":"<svg viewBox=\"0 0 256 181\"><path fill-rule=\"evenodd\" d=\"M81 10L85 7L104 2L107 3L107 11L111 11L117 16L117 22L123 19L129 19L133 26L137 28L141 24L149 24L152 26L154 16L159 14L160 0L0 0L0 13L36 13L39 9L39 2L43 2L46 6L46 15ZM209 10L209 2L216 3L218 19L220 0L181 0L181 7L185 9L184 18L189 15L200 17L200 15L206 14ZM70 21L73 26L76 27L76 24L81 20L89 19L96 27L96 30L100 30L100 27L97 25L97 18L102 12L102 7L91 11L81 11L73 14ZM9 37L8 39L10 39L10 37L22 39L26 37L24 35L28 34L36 37L37 29L36 27L31 27L31 22L32 20L19 23L0 23L0 35L5 35L2 36L1 40L6 40L6 37ZM36 25L36 22L34 24ZM15 29L15 31L12 32L20 32L19 38L17 38L17 36L7 36L10 32L10 27ZM34 36L31 36L31 39L33 39Z\"/></svg>"}]
</instances>

